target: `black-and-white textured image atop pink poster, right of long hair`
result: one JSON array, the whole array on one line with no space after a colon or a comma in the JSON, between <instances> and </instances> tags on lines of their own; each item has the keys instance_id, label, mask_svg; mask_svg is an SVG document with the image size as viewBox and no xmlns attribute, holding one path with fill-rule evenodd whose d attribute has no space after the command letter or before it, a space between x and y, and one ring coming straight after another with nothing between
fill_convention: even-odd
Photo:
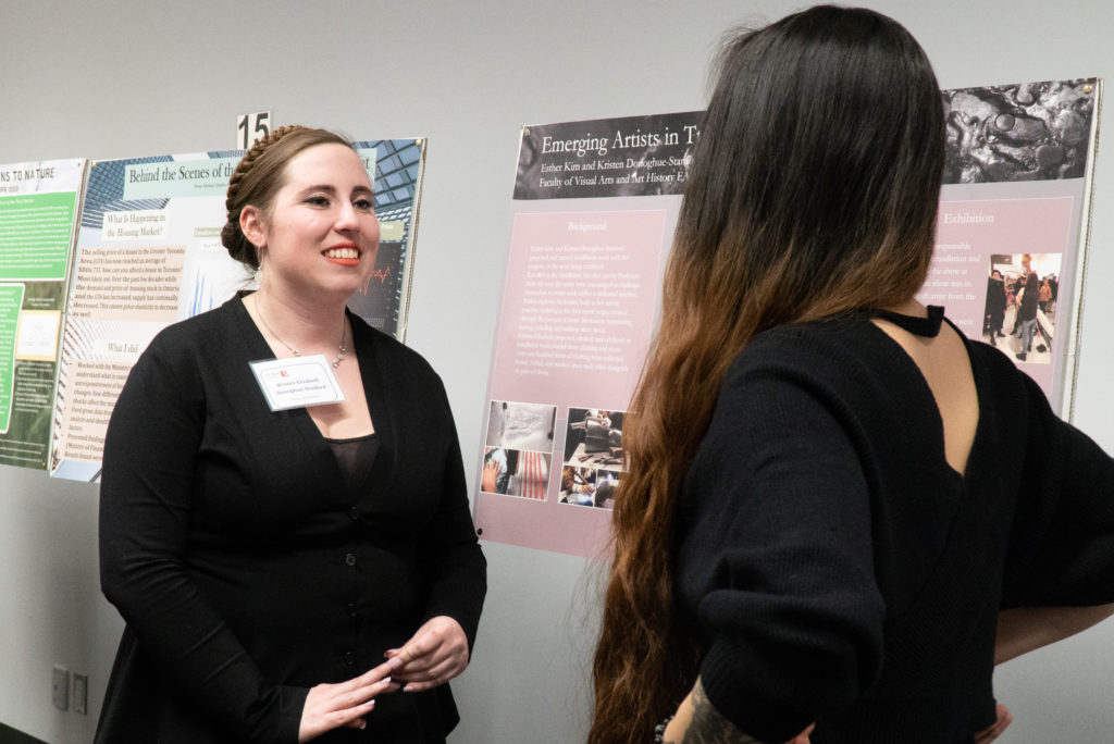
<instances>
[{"instance_id":1,"label":"black-and-white textured image atop pink poster, right of long hair","mask_svg":"<svg viewBox=\"0 0 1114 744\"><path fill-rule=\"evenodd\" d=\"M1083 177L1094 92L1094 78L945 90L944 182Z\"/></svg>"}]
</instances>

